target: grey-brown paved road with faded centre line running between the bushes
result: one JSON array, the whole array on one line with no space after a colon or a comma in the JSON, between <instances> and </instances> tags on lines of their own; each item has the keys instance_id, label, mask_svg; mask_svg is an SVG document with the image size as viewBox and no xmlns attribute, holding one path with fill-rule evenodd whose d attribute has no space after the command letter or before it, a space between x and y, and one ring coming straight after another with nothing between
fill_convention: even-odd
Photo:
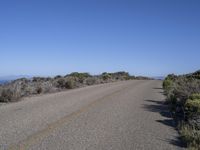
<instances>
[{"instance_id":1,"label":"grey-brown paved road with faded centre line running between the bushes","mask_svg":"<svg viewBox=\"0 0 200 150\"><path fill-rule=\"evenodd\" d=\"M181 149L161 81L123 81L0 107L0 149Z\"/></svg>"}]
</instances>

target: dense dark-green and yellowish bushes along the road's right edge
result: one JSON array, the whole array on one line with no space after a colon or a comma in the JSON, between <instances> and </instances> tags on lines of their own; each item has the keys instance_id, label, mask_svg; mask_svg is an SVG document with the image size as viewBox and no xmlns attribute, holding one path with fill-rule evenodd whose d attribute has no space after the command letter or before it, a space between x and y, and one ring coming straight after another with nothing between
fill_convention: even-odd
<instances>
[{"instance_id":1,"label":"dense dark-green and yellowish bushes along the road's right edge","mask_svg":"<svg viewBox=\"0 0 200 150\"><path fill-rule=\"evenodd\" d=\"M168 75L163 88L182 140L200 150L200 70L186 75Z\"/></svg>"}]
</instances>

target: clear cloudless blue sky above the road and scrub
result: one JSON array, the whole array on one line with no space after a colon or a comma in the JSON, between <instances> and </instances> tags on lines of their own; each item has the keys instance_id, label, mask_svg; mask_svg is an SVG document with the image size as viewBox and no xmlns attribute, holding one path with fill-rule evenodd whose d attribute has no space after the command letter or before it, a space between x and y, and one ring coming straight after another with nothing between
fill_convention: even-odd
<instances>
[{"instance_id":1,"label":"clear cloudless blue sky above the road and scrub","mask_svg":"<svg viewBox=\"0 0 200 150\"><path fill-rule=\"evenodd\" d=\"M0 76L200 69L199 0L2 0Z\"/></svg>"}]
</instances>

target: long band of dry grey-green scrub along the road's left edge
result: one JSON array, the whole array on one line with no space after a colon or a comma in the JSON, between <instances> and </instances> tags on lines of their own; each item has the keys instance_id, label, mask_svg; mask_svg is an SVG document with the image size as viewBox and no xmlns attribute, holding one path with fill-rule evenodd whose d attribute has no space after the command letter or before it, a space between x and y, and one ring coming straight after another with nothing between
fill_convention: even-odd
<instances>
[{"instance_id":1,"label":"long band of dry grey-green scrub along the road's left edge","mask_svg":"<svg viewBox=\"0 0 200 150\"><path fill-rule=\"evenodd\" d=\"M0 102L14 102L20 100L22 97L35 94L52 93L89 85L132 79L149 78L130 76L127 72L104 72L101 75L95 76L92 76L89 73L73 72L66 76L58 75L54 78L22 78L4 85L0 85Z\"/></svg>"}]
</instances>

